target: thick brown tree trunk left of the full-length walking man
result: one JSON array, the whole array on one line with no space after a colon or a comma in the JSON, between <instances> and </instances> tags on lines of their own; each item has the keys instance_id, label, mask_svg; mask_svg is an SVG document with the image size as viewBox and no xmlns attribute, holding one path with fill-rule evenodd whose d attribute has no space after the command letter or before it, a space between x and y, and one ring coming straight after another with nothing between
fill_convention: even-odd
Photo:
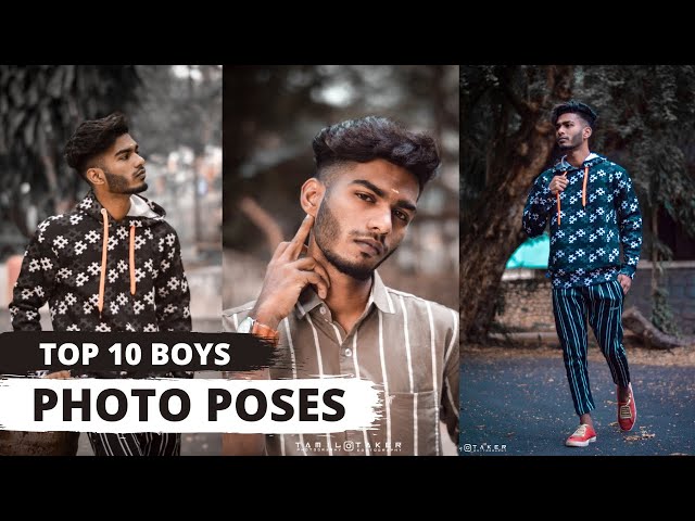
<instances>
[{"instance_id":1,"label":"thick brown tree trunk left of the full-length walking man","mask_svg":"<svg viewBox=\"0 0 695 521\"><path fill-rule=\"evenodd\" d=\"M459 310L464 342L482 342L488 335L506 262L526 238L521 228L526 199L553 150L548 112L555 101L569 99L571 92L571 66L547 66L543 72L542 89L529 88L538 78L527 76L527 91L515 92L514 72L500 80L498 96L505 109L498 114L498 128L486 151L486 188L475 211L468 213L470 221L462 223ZM519 120L518 129L510 132L507 127Z\"/></svg>"}]
</instances>

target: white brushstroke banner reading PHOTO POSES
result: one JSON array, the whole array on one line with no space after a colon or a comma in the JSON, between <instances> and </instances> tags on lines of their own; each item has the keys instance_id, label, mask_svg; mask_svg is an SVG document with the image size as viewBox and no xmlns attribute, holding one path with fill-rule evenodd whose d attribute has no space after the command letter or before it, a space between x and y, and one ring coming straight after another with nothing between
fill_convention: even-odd
<instances>
[{"instance_id":1,"label":"white brushstroke banner reading PHOTO POSES","mask_svg":"<svg viewBox=\"0 0 695 521\"><path fill-rule=\"evenodd\" d=\"M367 380L0 379L0 430L327 433L370 428Z\"/></svg>"}]
</instances>

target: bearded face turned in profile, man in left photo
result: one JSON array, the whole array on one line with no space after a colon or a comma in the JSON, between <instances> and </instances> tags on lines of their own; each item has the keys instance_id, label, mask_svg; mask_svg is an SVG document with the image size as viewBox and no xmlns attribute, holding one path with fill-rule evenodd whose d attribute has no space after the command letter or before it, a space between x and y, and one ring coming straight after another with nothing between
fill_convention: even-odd
<instances>
[{"instance_id":1,"label":"bearded face turned in profile, man in left photo","mask_svg":"<svg viewBox=\"0 0 695 521\"><path fill-rule=\"evenodd\" d=\"M100 160L111 193L140 193L144 182L144 160L138 155L138 143L128 134L119 136Z\"/></svg>"}]
</instances>

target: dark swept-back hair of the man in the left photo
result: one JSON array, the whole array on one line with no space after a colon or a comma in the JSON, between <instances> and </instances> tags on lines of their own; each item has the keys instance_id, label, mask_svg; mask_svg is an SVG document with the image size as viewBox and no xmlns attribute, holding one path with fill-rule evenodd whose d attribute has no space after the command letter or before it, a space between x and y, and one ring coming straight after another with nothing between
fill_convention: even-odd
<instances>
[{"instance_id":1,"label":"dark swept-back hair of the man in the left photo","mask_svg":"<svg viewBox=\"0 0 695 521\"><path fill-rule=\"evenodd\" d=\"M128 123L119 112L101 119L84 122L67 140L65 161L84 176L92 166L91 160L108 150L124 134L128 134Z\"/></svg>"}]
</instances>

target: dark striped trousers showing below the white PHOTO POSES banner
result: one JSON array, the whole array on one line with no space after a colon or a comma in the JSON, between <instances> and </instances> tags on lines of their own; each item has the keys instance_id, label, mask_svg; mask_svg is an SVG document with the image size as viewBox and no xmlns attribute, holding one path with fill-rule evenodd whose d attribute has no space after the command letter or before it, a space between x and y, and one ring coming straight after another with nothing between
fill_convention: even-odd
<instances>
[{"instance_id":1,"label":"dark striped trousers showing below the white PHOTO POSES banner","mask_svg":"<svg viewBox=\"0 0 695 521\"><path fill-rule=\"evenodd\" d=\"M90 432L94 456L180 456L181 434L173 432Z\"/></svg>"}]
</instances>

